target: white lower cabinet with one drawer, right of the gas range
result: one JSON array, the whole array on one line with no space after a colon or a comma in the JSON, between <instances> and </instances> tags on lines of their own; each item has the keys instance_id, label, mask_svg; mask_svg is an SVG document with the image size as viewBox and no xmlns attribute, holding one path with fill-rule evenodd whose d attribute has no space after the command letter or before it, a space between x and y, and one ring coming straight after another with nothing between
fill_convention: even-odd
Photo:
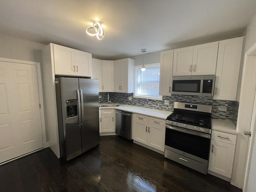
<instances>
[{"instance_id":1,"label":"white lower cabinet with one drawer, right of the gas range","mask_svg":"<svg viewBox=\"0 0 256 192\"><path fill-rule=\"evenodd\" d=\"M235 147L236 135L213 130L208 170L231 178Z\"/></svg>"}]
</instances>

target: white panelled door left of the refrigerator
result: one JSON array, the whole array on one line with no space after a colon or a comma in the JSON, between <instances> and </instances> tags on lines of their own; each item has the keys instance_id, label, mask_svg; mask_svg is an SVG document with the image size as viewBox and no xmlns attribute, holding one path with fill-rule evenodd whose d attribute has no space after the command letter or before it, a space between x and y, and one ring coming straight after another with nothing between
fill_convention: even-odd
<instances>
[{"instance_id":1,"label":"white panelled door left of the refrigerator","mask_svg":"<svg viewBox=\"0 0 256 192\"><path fill-rule=\"evenodd\" d=\"M43 147L35 65L0 62L0 163Z\"/></svg>"}]
</instances>

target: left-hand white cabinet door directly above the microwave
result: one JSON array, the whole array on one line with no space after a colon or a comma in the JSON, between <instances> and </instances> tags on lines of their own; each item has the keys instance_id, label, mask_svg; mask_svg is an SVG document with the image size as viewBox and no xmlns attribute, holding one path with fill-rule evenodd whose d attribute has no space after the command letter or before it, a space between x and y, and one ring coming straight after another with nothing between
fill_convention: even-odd
<instances>
[{"instance_id":1,"label":"left-hand white cabinet door directly above the microwave","mask_svg":"<svg viewBox=\"0 0 256 192\"><path fill-rule=\"evenodd\" d=\"M172 76L191 75L193 47L175 49L173 54Z\"/></svg>"}]
</instances>

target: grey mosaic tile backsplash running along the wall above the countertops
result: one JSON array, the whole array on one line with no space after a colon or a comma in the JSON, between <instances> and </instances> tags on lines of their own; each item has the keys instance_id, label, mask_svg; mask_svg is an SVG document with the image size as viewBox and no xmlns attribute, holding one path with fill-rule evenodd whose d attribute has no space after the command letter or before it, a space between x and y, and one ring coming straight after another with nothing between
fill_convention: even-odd
<instances>
[{"instance_id":1,"label":"grey mosaic tile backsplash running along the wall above the countertops","mask_svg":"<svg viewBox=\"0 0 256 192\"><path fill-rule=\"evenodd\" d=\"M102 96L102 98L99 99L100 103L108 102L108 93L101 92L99 95ZM128 96L131 96L132 100L128 100ZM133 93L116 93L116 92L110 92L109 97L111 102L115 102L115 103L147 107L147 108L165 110L170 112L174 108L174 101L211 105L212 118L230 119L235 125L237 122L239 103L236 101L212 100L212 97L187 96L187 95L163 96L163 100L151 100L151 99L134 98ZM164 100L170 100L170 105L165 105ZM227 111L218 110L219 106L226 106Z\"/></svg>"}]
</instances>

